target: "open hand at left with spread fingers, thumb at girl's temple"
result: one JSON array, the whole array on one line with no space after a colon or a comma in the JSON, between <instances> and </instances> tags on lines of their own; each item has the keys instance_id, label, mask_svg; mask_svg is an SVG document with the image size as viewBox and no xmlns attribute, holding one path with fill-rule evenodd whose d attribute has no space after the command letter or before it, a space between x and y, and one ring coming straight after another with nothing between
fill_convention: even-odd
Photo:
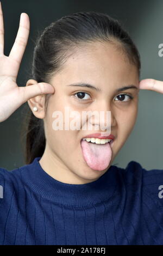
<instances>
[{"instance_id":1,"label":"open hand at left with spread fingers, thumb at girl's temple","mask_svg":"<svg viewBox=\"0 0 163 256\"><path fill-rule=\"evenodd\" d=\"M29 17L22 13L17 36L8 56L4 55L4 25L0 2L0 122L6 120L24 102L42 94L54 93L48 83L18 87L16 78L29 36Z\"/></svg>"}]
</instances>

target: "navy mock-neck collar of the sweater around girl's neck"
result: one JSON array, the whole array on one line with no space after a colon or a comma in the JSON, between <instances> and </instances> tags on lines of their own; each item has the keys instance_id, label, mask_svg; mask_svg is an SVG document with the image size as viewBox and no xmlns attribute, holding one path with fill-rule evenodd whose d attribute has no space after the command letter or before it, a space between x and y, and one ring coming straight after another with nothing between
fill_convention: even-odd
<instances>
[{"instance_id":1,"label":"navy mock-neck collar of the sweater around girl's neck","mask_svg":"<svg viewBox=\"0 0 163 256\"><path fill-rule=\"evenodd\" d=\"M118 180L116 166L111 166L96 181L87 184L67 184L47 174L39 163L40 159L41 157L36 157L32 163L21 167L21 176L23 182L43 198L58 204L86 206L104 202L116 192Z\"/></svg>"}]
</instances>

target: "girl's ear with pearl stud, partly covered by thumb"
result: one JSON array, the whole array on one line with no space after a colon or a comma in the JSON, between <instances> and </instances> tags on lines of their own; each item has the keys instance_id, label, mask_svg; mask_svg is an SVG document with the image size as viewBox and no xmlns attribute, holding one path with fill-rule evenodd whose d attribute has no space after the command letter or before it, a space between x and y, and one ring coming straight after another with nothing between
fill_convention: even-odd
<instances>
[{"instance_id":1,"label":"girl's ear with pearl stud, partly covered by thumb","mask_svg":"<svg viewBox=\"0 0 163 256\"><path fill-rule=\"evenodd\" d=\"M37 81L34 79L29 79L26 83L26 86L33 86L34 84L37 84ZM40 119L45 117L45 94L29 99L28 105L35 117ZM33 111L34 107L37 107L37 111Z\"/></svg>"}]
</instances>

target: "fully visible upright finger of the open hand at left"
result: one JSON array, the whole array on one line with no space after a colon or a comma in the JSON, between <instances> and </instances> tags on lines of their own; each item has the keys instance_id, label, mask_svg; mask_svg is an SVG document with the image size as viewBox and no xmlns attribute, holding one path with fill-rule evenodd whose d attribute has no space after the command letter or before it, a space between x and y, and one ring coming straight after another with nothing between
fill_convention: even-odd
<instances>
[{"instance_id":1,"label":"fully visible upright finger of the open hand at left","mask_svg":"<svg viewBox=\"0 0 163 256\"><path fill-rule=\"evenodd\" d=\"M29 17L26 13L22 13L20 17L20 26L16 35L16 39L9 57L21 63L29 36Z\"/></svg>"}]
</instances>

